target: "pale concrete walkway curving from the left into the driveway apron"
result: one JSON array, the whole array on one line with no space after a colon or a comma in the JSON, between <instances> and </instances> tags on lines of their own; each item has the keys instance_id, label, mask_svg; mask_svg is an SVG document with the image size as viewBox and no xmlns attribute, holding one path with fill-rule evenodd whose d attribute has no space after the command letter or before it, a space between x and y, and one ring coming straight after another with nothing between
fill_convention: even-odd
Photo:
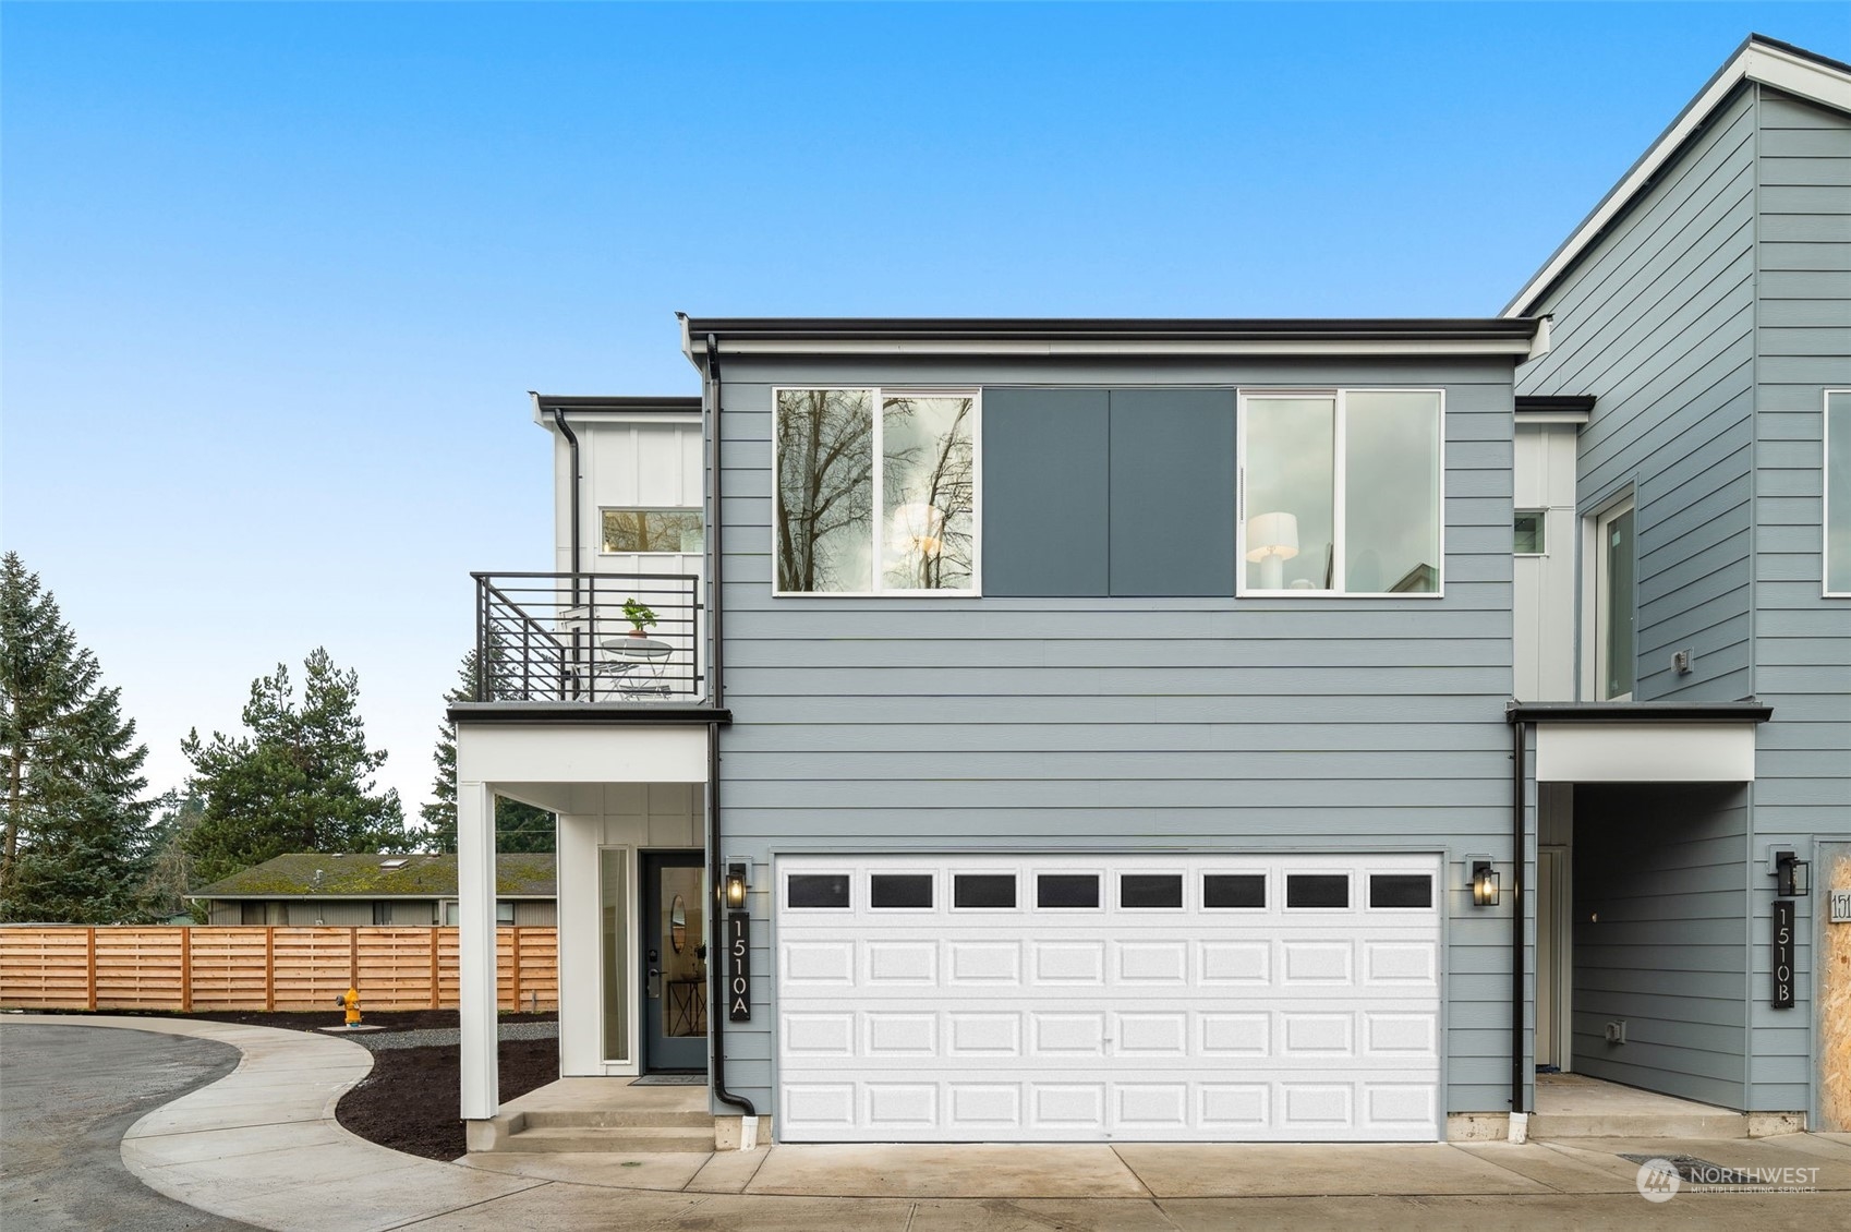
<instances>
[{"instance_id":1,"label":"pale concrete walkway curving from the left into the driveway apron","mask_svg":"<svg viewBox=\"0 0 1851 1232\"><path fill-rule=\"evenodd\" d=\"M48 1019L7 1017L7 1028ZM361 1141L335 1100L359 1045L198 1021L74 1019L237 1045L242 1063L122 1139L161 1193L265 1228L1820 1228L1851 1223L1851 1136L1412 1145L798 1145L720 1154L489 1154L435 1163ZM4 1032L0 1032L4 1043ZM1634 1154L1808 1169L1805 1193L1646 1202ZM1790 1175L1792 1176L1792 1175ZM1790 1180L1790 1184L1795 1184Z\"/></svg>"}]
</instances>

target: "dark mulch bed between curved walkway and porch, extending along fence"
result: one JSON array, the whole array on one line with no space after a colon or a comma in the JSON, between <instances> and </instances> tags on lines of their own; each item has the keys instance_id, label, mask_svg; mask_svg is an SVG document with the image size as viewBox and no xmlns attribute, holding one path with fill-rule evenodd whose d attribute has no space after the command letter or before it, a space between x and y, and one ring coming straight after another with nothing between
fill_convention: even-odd
<instances>
[{"instance_id":1,"label":"dark mulch bed between curved walkway and porch, extending along fence","mask_svg":"<svg viewBox=\"0 0 1851 1232\"><path fill-rule=\"evenodd\" d=\"M207 1019L320 1030L341 1026L344 1015L267 1013L228 1010L213 1013L130 1013L152 1019ZM503 1013L503 1023L553 1023L557 1013ZM457 1025L455 1010L368 1010L368 1026L387 1030L433 1030ZM559 1078L557 1039L507 1039L502 1043L502 1102ZM381 1049L372 1054L372 1073L341 1097L335 1117L352 1134L429 1160L455 1160L466 1152L463 1139L463 1067L455 1045L429 1049Z\"/></svg>"}]
</instances>

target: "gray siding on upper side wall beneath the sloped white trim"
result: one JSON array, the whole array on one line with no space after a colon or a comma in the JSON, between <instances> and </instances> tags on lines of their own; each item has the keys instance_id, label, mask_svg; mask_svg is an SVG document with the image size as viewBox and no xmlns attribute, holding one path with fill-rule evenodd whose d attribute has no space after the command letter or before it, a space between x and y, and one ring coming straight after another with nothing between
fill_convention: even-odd
<instances>
[{"instance_id":1,"label":"gray siding on upper side wall beneath the sloped white trim","mask_svg":"<svg viewBox=\"0 0 1851 1232\"><path fill-rule=\"evenodd\" d=\"M1520 393L1597 396L1583 513L1634 495L1638 700L1755 691L1755 122L1744 91L1538 306L1553 346L1518 372Z\"/></svg>"}]
</instances>

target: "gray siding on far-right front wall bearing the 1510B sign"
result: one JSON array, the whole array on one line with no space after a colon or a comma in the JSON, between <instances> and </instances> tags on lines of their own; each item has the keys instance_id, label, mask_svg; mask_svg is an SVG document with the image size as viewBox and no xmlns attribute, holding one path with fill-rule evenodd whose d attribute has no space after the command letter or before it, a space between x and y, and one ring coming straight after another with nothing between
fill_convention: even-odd
<instances>
[{"instance_id":1,"label":"gray siding on far-right front wall bearing the 1510B sign","mask_svg":"<svg viewBox=\"0 0 1851 1232\"><path fill-rule=\"evenodd\" d=\"M1773 721L1755 758L1751 1106L1805 1110L1812 911L1799 911L1797 1004L1773 1010L1764 856L1851 837L1851 598L1821 595L1825 389L1851 387L1851 117L1764 89L1758 163L1755 684Z\"/></svg>"}]
</instances>

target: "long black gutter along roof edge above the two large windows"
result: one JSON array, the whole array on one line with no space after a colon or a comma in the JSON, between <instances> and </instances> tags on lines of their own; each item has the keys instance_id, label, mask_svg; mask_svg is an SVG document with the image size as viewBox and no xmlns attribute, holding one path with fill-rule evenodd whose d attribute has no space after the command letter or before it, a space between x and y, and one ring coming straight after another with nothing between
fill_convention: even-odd
<instances>
[{"instance_id":1,"label":"long black gutter along roof edge above the two large windows","mask_svg":"<svg viewBox=\"0 0 1851 1232\"><path fill-rule=\"evenodd\" d=\"M739 339L1066 339L1066 341L1275 341L1275 339L1512 339L1534 337L1534 317L713 317L689 319L689 335Z\"/></svg>"}]
</instances>

